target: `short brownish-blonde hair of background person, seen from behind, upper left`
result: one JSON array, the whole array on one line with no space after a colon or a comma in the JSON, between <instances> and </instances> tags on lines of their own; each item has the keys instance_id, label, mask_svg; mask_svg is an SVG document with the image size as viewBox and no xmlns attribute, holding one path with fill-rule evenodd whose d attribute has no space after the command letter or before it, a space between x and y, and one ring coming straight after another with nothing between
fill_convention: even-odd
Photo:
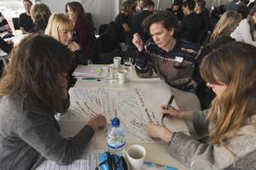
<instances>
[{"instance_id":1,"label":"short brownish-blonde hair of background person, seen from behind, upper left","mask_svg":"<svg viewBox=\"0 0 256 170\"><path fill-rule=\"evenodd\" d=\"M47 24L50 17L50 8L44 3L36 3L32 5L30 9L30 14L34 23Z\"/></svg>"}]
</instances>

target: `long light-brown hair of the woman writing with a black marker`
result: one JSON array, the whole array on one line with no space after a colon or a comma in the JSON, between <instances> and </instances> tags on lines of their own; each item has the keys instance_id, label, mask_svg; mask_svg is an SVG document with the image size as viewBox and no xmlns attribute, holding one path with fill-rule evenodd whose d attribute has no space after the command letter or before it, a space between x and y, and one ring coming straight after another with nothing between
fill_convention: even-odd
<instances>
[{"instance_id":1,"label":"long light-brown hair of the woman writing with a black marker","mask_svg":"<svg viewBox=\"0 0 256 170\"><path fill-rule=\"evenodd\" d=\"M203 59L200 72L212 84L224 84L227 90L215 99L208 119L216 126L209 135L211 144L227 144L256 114L256 47L234 42L214 50Z\"/></svg>"}]
</instances>

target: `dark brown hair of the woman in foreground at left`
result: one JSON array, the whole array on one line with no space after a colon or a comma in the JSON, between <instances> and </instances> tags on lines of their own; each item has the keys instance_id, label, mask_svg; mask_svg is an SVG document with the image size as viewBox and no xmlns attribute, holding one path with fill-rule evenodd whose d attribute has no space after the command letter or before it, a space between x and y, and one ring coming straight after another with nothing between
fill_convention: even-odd
<instances>
[{"instance_id":1,"label":"dark brown hair of the woman in foreground at left","mask_svg":"<svg viewBox=\"0 0 256 170\"><path fill-rule=\"evenodd\" d=\"M0 96L20 95L47 109L61 109L59 74L66 73L71 64L71 51L59 41L28 35L11 52L0 80Z\"/></svg>"}]
</instances>

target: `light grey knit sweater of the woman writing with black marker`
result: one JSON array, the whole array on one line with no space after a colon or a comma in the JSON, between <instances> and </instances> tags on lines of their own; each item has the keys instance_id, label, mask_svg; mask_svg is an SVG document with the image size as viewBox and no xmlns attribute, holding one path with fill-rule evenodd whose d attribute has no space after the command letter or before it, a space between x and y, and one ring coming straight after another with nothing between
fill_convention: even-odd
<instances>
[{"instance_id":1,"label":"light grey knit sweater of the woman writing with black marker","mask_svg":"<svg viewBox=\"0 0 256 170\"><path fill-rule=\"evenodd\" d=\"M194 113L193 124L201 127L201 132L208 131L203 129L204 127L208 127L209 130L214 128L214 124L206 122L205 117L206 112ZM198 136L203 137L202 134ZM256 169L256 115L246 121L236 137L231 138L227 148L202 143L192 136L177 132L169 144L169 154L193 170L254 170Z\"/></svg>"}]
</instances>

